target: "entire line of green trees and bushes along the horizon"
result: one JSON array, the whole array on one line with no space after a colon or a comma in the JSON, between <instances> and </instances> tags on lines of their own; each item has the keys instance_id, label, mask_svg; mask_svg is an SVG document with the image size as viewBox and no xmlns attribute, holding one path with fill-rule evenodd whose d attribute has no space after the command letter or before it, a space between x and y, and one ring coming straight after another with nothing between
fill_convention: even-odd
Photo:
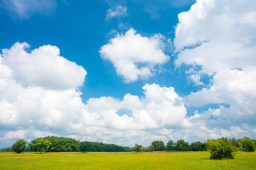
<instances>
[{"instance_id":1,"label":"entire line of green trees and bushes along the horizon","mask_svg":"<svg viewBox=\"0 0 256 170\"><path fill-rule=\"evenodd\" d=\"M80 142L70 137L41 137L32 140L29 144L25 140L17 140L12 147L3 148L1 152L188 152L208 151L210 159L233 159L238 149L245 152L255 151L256 140L249 137L236 140L235 138L222 137L218 140L207 140L206 142L192 142L185 140L169 140L166 145L163 141L151 142L149 147L135 144L134 147L122 147L102 142Z\"/></svg>"}]
</instances>

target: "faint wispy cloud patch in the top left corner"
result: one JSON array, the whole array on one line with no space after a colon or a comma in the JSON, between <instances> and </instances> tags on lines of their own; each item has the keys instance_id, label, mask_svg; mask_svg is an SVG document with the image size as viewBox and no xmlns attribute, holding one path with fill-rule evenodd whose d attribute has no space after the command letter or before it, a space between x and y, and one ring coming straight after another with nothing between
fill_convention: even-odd
<instances>
[{"instance_id":1,"label":"faint wispy cloud patch in the top left corner","mask_svg":"<svg viewBox=\"0 0 256 170\"><path fill-rule=\"evenodd\" d=\"M29 18L33 13L48 14L56 6L55 0L4 0L1 8L5 8L20 18Z\"/></svg>"}]
</instances>

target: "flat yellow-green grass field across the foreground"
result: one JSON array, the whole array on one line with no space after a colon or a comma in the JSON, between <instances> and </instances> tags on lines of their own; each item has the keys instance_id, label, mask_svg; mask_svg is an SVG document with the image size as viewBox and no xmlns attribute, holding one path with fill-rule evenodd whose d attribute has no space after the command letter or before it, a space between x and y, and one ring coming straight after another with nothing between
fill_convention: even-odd
<instances>
[{"instance_id":1,"label":"flat yellow-green grass field across the foreground","mask_svg":"<svg viewBox=\"0 0 256 170\"><path fill-rule=\"evenodd\" d=\"M256 169L256 152L212 160L208 152L0 153L0 169Z\"/></svg>"}]
</instances>

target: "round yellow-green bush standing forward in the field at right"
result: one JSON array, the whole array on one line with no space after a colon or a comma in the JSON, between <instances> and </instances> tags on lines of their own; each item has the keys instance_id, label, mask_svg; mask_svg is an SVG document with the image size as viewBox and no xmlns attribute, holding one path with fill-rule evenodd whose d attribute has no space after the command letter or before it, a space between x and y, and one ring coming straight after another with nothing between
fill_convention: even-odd
<instances>
[{"instance_id":1,"label":"round yellow-green bush standing forward in the field at right","mask_svg":"<svg viewBox=\"0 0 256 170\"><path fill-rule=\"evenodd\" d=\"M219 140L208 140L206 148L210 152L210 159L234 159L235 157L236 148L224 137Z\"/></svg>"}]
</instances>

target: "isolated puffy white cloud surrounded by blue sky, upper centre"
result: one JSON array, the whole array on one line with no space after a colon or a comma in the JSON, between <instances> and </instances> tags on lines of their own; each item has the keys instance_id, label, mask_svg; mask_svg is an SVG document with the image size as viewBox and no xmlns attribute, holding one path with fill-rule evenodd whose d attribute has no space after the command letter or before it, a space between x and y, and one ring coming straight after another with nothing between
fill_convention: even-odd
<instances>
[{"instance_id":1,"label":"isolated puffy white cloud surrounded by blue sky, upper centre","mask_svg":"<svg viewBox=\"0 0 256 170\"><path fill-rule=\"evenodd\" d=\"M153 74L156 64L169 60L169 56L163 52L163 38L160 34L151 38L142 37L131 28L103 45L100 55L114 64L117 74L122 75L126 82L146 79Z\"/></svg>"}]
</instances>

